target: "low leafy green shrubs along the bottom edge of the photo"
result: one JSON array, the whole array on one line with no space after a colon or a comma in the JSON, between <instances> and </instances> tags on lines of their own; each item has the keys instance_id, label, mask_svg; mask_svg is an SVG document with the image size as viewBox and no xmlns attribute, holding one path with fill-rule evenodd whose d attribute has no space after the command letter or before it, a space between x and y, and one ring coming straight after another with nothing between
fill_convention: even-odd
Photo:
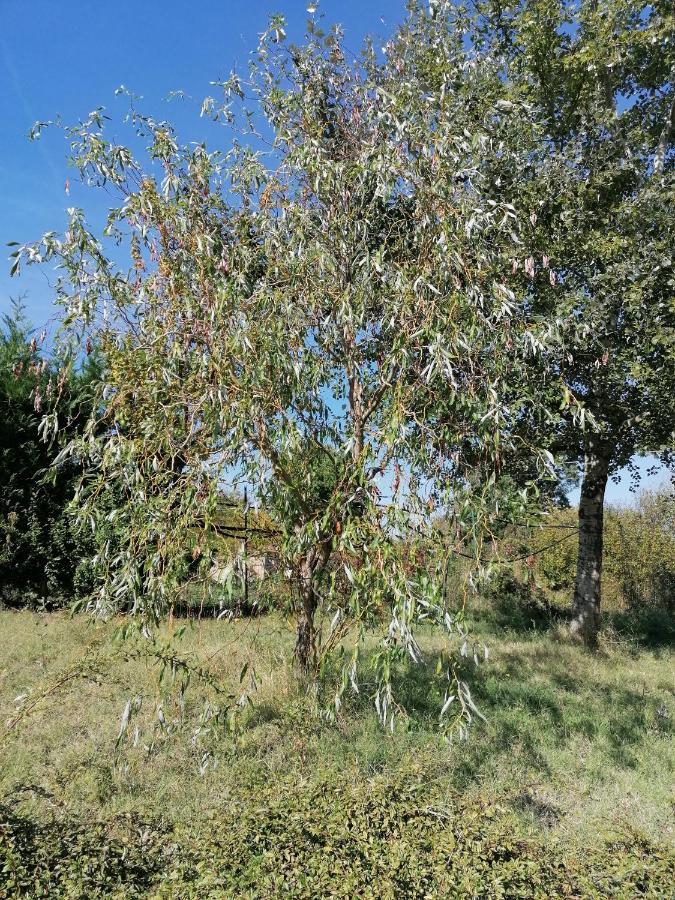
<instances>
[{"instance_id":1,"label":"low leafy green shrubs along the bottom edge of the photo","mask_svg":"<svg viewBox=\"0 0 675 900\"><path fill-rule=\"evenodd\" d=\"M517 836L501 807L433 802L414 776L255 783L189 828L38 824L0 808L0 897L665 897L672 854L636 835L574 853ZM251 798L255 798L252 802Z\"/></svg>"}]
</instances>

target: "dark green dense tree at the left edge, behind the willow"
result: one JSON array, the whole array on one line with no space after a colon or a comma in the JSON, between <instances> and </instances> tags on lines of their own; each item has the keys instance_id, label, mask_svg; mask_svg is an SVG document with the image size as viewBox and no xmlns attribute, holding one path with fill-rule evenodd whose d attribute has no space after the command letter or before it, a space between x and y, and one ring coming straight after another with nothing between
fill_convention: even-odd
<instances>
[{"instance_id":1,"label":"dark green dense tree at the left edge, behind the willow","mask_svg":"<svg viewBox=\"0 0 675 900\"><path fill-rule=\"evenodd\" d=\"M91 413L88 364L75 375L49 362L20 304L0 330L0 597L10 605L70 602L88 588L93 544L68 505L81 474L74 460L54 467L58 443L45 440L43 414L58 403L59 432L70 440Z\"/></svg>"}]
</instances>

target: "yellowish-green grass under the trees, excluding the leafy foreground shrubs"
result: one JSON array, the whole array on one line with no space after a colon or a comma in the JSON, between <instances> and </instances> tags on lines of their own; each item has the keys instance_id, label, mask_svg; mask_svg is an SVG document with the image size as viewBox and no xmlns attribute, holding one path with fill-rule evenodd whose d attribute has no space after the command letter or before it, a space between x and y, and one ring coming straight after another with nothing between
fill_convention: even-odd
<instances>
[{"instance_id":1,"label":"yellowish-green grass under the trees, excluding the leafy foreground shrubs","mask_svg":"<svg viewBox=\"0 0 675 900\"><path fill-rule=\"evenodd\" d=\"M411 718L393 735L381 731L363 702L347 704L335 724L319 720L289 671L293 636L281 618L202 621L182 639L183 652L235 696L255 669L254 702L233 736L223 729L196 734L204 702L215 699L212 689L194 682L181 705L175 692L160 688L156 666L124 661L111 648L109 628L60 613L2 612L0 723L15 714L18 695L35 706L0 732L0 802L24 823L42 827L65 817L190 828L222 821L233 808L240 809L239 827L261 797L268 809L279 796L298 803L323 797L327 786L353 798L370 796L377 784L398 791L419 784L429 808L487 805L506 817L518 840L560 847L566 858L577 847L597 845L598 835L612 841L639 834L655 847L672 848L672 650L605 639L591 654L562 640L555 625L535 624L521 618L509 625L490 610L476 616L474 633L491 653L468 676L487 723L468 741L447 744L436 726L440 698L423 671L400 673ZM423 646L431 665L440 638L430 632ZM81 671L87 648L92 662ZM140 712L116 746L124 705L137 696ZM317 803L308 808L318 809ZM203 895L210 896L206 889Z\"/></svg>"}]
</instances>

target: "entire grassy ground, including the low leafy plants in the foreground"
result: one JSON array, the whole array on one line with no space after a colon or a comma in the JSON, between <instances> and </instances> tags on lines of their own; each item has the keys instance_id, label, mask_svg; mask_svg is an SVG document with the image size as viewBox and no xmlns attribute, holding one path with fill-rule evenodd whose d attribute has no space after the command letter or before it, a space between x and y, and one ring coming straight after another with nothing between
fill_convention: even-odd
<instances>
[{"instance_id":1,"label":"entire grassy ground, including the low leafy plants in the foreground","mask_svg":"<svg viewBox=\"0 0 675 900\"><path fill-rule=\"evenodd\" d=\"M182 639L235 695L255 669L234 735L196 734L211 688L182 702L109 628L28 612L0 628L0 896L670 895L667 645L606 638L593 655L485 612L473 629L490 659L469 675L487 723L448 744L423 673L401 673L411 717L393 735L365 703L318 719L281 618ZM439 646L425 636L430 659Z\"/></svg>"}]
</instances>

